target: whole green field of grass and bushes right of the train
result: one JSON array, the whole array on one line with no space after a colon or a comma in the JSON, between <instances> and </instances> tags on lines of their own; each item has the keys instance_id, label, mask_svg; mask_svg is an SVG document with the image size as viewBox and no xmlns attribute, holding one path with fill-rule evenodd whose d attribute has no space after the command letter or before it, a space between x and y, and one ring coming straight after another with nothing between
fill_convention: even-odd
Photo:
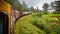
<instances>
[{"instance_id":1,"label":"whole green field of grass and bushes right of the train","mask_svg":"<svg viewBox=\"0 0 60 34\"><path fill-rule=\"evenodd\" d=\"M54 16L54 14L33 13L18 19L14 26L14 34L60 34L59 19L49 15Z\"/></svg>"}]
</instances>

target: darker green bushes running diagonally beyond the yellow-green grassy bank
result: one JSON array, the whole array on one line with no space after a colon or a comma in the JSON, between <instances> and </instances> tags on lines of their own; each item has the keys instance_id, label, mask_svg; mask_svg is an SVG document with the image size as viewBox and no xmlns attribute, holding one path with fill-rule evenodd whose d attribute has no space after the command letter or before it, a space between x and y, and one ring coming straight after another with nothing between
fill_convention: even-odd
<instances>
[{"instance_id":1,"label":"darker green bushes running diagonally beyond the yellow-green grassy bank","mask_svg":"<svg viewBox=\"0 0 60 34\"><path fill-rule=\"evenodd\" d=\"M31 23L33 25L35 25L36 27L38 27L39 29L43 30L46 32L46 34L56 34L56 32L54 31L53 27L51 26L51 24L47 23L48 21L42 19L42 18L38 18L38 16L33 16L34 18L31 19Z\"/></svg>"}]
</instances>

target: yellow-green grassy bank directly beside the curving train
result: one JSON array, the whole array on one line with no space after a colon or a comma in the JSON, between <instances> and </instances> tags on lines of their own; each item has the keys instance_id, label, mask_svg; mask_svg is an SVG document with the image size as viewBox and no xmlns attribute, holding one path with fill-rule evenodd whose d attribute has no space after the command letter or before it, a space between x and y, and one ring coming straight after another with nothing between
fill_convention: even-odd
<instances>
[{"instance_id":1,"label":"yellow-green grassy bank directly beside the curving train","mask_svg":"<svg viewBox=\"0 0 60 34\"><path fill-rule=\"evenodd\" d=\"M38 29L35 25L30 23L29 18L32 16L25 16L19 19L14 26L14 34L46 34L44 31Z\"/></svg>"}]
</instances>

